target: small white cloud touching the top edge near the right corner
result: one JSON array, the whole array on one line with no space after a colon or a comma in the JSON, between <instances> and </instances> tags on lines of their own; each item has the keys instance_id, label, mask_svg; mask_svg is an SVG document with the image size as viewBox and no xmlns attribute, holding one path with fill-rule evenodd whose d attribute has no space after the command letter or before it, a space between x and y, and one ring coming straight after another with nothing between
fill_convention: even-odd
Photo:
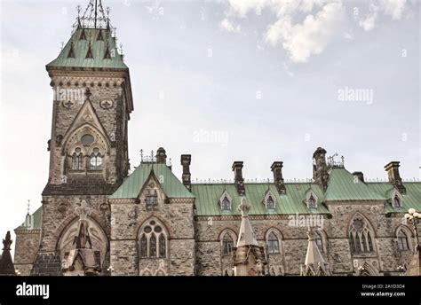
<instances>
[{"instance_id":1,"label":"small white cloud touching the top edge near the right corner","mask_svg":"<svg viewBox=\"0 0 421 305\"><path fill-rule=\"evenodd\" d=\"M390 16L393 20L401 20L407 10L407 0L371 0L369 13L360 20L359 24L366 31L376 27L376 22L380 13Z\"/></svg>"}]
</instances>

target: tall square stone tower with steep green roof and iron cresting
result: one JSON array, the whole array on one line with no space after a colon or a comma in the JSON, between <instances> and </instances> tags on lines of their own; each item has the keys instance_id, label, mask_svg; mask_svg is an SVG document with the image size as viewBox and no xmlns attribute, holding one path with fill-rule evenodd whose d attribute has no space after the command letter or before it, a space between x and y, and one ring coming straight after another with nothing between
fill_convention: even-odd
<instances>
[{"instance_id":1,"label":"tall square stone tower with steep green roof and iron cresting","mask_svg":"<svg viewBox=\"0 0 421 305\"><path fill-rule=\"evenodd\" d=\"M72 248L75 209L90 208L91 238L98 264L109 261L107 197L128 175L128 122L133 111L129 67L116 43L102 2L78 7L73 31L60 54L46 65L51 78L50 170L43 192L39 249L31 274L61 274Z\"/></svg>"}]
</instances>

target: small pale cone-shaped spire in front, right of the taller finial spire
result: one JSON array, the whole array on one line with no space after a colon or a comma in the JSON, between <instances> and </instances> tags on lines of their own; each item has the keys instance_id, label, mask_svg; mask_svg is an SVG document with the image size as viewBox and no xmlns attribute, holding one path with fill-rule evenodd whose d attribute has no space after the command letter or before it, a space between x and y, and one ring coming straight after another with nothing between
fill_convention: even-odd
<instances>
[{"instance_id":1,"label":"small pale cone-shaped spire in front, right of the taller finial spire","mask_svg":"<svg viewBox=\"0 0 421 305\"><path fill-rule=\"evenodd\" d=\"M316 232L309 228L307 231L308 236L308 246L306 261L304 266L301 266L301 275L302 276L330 276L329 263L326 263L323 259L322 254L320 253L319 247L317 246Z\"/></svg>"}]
</instances>

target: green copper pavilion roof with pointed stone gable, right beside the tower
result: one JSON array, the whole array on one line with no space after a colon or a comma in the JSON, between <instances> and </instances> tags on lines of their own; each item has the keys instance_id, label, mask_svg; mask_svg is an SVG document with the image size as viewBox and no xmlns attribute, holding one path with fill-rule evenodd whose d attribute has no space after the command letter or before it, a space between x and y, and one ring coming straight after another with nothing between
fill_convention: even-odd
<instances>
[{"instance_id":1,"label":"green copper pavilion roof with pointed stone gable, right beside the tower","mask_svg":"<svg viewBox=\"0 0 421 305\"><path fill-rule=\"evenodd\" d=\"M109 199L133 199L137 198L143 185L147 182L151 170L154 169L154 175L159 184L163 187L163 192L168 198L193 198L191 192L181 184L179 179L172 174L171 169L165 164L142 163L138 168L127 177L123 184L115 191Z\"/></svg>"}]
</instances>

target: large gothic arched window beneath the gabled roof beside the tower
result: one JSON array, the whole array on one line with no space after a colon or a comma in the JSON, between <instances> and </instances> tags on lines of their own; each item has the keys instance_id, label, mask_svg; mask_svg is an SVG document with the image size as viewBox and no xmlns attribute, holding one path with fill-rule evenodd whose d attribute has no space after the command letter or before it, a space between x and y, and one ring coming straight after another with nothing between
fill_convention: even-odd
<instances>
[{"instance_id":1,"label":"large gothic arched window beneath the gabled roof beside the tower","mask_svg":"<svg viewBox=\"0 0 421 305\"><path fill-rule=\"evenodd\" d=\"M139 252L140 258L166 258L167 233L163 225L151 220L140 230Z\"/></svg>"}]
</instances>

